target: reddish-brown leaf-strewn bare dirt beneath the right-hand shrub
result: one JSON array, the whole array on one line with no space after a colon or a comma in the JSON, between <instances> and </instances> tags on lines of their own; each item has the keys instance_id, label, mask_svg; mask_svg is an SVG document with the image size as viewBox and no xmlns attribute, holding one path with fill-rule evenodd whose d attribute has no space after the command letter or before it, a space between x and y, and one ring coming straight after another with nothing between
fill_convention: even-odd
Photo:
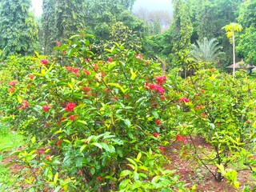
<instances>
[{"instance_id":1,"label":"reddish-brown leaf-strewn bare dirt beneath the right-hand shrub","mask_svg":"<svg viewBox=\"0 0 256 192\"><path fill-rule=\"evenodd\" d=\"M193 138L194 145L206 150L211 150L209 143L202 137ZM191 142L191 141L187 141ZM186 154L179 154L181 149L180 143L175 143L174 146L170 146L166 149L166 153L171 161L169 169L177 170L177 174L180 175L180 180L186 182L188 187L196 185L198 192L233 192L236 191L234 187L230 186L223 179L222 182L216 182L214 176L204 167L199 166L192 158L186 158ZM215 170L215 167L212 168ZM250 171L245 170L238 173L238 181L241 182L240 186L250 183Z\"/></svg>"}]
</instances>

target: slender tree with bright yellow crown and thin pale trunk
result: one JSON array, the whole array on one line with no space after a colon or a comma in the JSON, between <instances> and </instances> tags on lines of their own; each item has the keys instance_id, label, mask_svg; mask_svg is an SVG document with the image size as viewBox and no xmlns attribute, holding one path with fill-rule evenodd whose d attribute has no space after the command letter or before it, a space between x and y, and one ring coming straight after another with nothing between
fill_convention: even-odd
<instances>
[{"instance_id":1,"label":"slender tree with bright yellow crown and thin pale trunk","mask_svg":"<svg viewBox=\"0 0 256 192\"><path fill-rule=\"evenodd\" d=\"M235 43L234 43L234 31L242 30L242 26L238 23L231 22L229 25L222 27L222 29L226 30L227 38L230 38L230 42L233 44L233 77L235 76Z\"/></svg>"}]
</instances>

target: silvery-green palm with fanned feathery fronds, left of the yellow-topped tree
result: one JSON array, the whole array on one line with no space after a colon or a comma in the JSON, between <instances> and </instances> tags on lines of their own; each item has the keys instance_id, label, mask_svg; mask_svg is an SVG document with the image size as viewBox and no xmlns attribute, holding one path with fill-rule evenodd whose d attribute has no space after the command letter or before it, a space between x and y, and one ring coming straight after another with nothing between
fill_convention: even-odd
<instances>
[{"instance_id":1,"label":"silvery-green palm with fanned feathery fronds, left of the yellow-topped tree","mask_svg":"<svg viewBox=\"0 0 256 192\"><path fill-rule=\"evenodd\" d=\"M218 46L216 38L203 38L202 41L197 40L197 45L192 44L190 56L197 63L214 63L224 54L221 50L222 46Z\"/></svg>"}]
</instances>

